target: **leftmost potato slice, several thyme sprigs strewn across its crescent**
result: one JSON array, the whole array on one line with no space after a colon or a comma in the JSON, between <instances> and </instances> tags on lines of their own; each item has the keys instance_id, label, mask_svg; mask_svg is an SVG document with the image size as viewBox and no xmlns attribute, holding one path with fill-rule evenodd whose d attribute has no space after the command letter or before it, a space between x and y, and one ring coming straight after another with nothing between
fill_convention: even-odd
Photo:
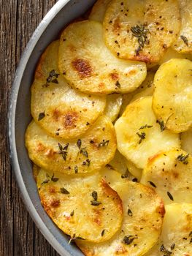
<instances>
[{"instance_id":1,"label":"leftmost potato slice, several thyme sprigs strewn across its crescent","mask_svg":"<svg viewBox=\"0 0 192 256\"><path fill-rule=\"evenodd\" d=\"M115 130L109 118L101 116L80 138L58 140L32 121L26 131L26 147L30 159L45 170L89 173L107 165L114 157Z\"/></svg>"}]
</instances>

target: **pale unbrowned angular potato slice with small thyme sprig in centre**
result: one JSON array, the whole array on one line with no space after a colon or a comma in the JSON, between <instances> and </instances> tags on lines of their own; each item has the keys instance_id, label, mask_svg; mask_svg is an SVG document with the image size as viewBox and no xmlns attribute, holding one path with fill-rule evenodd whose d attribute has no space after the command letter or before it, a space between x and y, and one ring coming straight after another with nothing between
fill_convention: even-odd
<instances>
[{"instance_id":1,"label":"pale unbrowned angular potato slice with small thyme sprig in centre","mask_svg":"<svg viewBox=\"0 0 192 256\"><path fill-rule=\"evenodd\" d=\"M141 169L158 151L180 146L179 135L161 131L151 105L152 97L137 99L115 123L118 150Z\"/></svg>"}]
</instances>

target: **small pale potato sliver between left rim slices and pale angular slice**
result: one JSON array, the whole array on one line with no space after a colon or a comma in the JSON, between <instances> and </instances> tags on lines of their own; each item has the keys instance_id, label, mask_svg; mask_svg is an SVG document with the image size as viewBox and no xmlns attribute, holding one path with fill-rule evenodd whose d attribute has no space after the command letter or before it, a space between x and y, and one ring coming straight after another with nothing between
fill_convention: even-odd
<instances>
[{"instance_id":1,"label":"small pale potato sliver between left rim slices and pale angular slice","mask_svg":"<svg viewBox=\"0 0 192 256\"><path fill-rule=\"evenodd\" d=\"M120 94L107 95L107 104L104 109L104 115L108 116L112 122L118 117L122 102L123 96Z\"/></svg>"}]
</instances>

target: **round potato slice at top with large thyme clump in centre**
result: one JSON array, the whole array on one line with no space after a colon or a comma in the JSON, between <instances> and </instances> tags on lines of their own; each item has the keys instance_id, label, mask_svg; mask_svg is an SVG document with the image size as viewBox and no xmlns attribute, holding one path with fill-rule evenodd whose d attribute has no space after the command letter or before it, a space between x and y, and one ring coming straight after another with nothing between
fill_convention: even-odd
<instances>
[{"instance_id":1,"label":"round potato slice at top with large thyme clump in centre","mask_svg":"<svg viewBox=\"0 0 192 256\"><path fill-rule=\"evenodd\" d=\"M112 0L105 13L107 47L122 59L158 62L179 31L177 0Z\"/></svg>"}]
</instances>

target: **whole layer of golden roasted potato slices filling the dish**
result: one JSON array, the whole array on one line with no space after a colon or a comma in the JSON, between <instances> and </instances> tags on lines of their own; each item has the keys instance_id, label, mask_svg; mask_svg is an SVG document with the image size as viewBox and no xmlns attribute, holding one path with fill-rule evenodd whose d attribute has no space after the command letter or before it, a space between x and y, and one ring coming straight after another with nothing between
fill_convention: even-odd
<instances>
[{"instance_id":1,"label":"whole layer of golden roasted potato slices filling the dish","mask_svg":"<svg viewBox=\"0 0 192 256\"><path fill-rule=\"evenodd\" d=\"M192 255L192 1L98 0L48 45L28 156L87 256Z\"/></svg>"}]
</instances>

